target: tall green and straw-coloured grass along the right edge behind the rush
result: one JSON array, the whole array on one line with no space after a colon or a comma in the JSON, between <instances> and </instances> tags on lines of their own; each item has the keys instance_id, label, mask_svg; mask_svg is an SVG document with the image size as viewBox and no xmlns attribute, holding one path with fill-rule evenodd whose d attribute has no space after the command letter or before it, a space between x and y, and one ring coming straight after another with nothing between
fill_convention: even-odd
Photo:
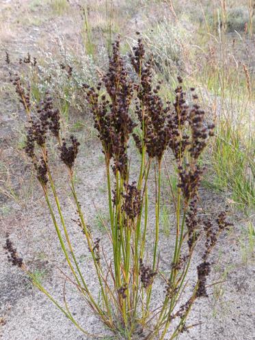
<instances>
[{"instance_id":1,"label":"tall green and straw-coloured grass along the right edge behind the rush","mask_svg":"<svg viewBox=\"0 0 255 340\"><path fill-rule=\"evenodd\" d=\"M215 121L216 138L211 143L207 184L226 192L239 209L250 211L255 207L254 192L254 71L251 43L252 20L228 34L232 7L227 1L211 3L204 10L200 2L200 23L195 44L187 51L187 68L205 105L213 107L207 119ZM252 11L252 3L246 10Z\"/></svg>"}]
</instances>

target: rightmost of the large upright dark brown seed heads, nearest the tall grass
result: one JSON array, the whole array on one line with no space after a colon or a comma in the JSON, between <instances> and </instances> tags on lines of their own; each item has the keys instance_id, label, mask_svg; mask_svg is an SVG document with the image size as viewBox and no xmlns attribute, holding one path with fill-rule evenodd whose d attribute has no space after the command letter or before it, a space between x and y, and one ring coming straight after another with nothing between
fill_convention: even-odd
<instances>
[{"instance_id":1,"label":"rightmost of the large upright dark brown seed heads, nearest the tall grass","mask_svg":"<svg viewBox=\"0 0 255 340\"><path fill-rule=\"evenodd\" d=\"M178 77L174 111L170 116L170 143L174 157L178 164L178 187L182 189L185 205L197 196L201 176L204 168L198 165L198 158L207 145L208 139L213 135L214 125L206 125L204 111L196 103L187 105L186 93L183 90L183 79ZM191 88L191 91L194 91ZM193 94L193 99L198 96ZM184 162L187 153L189 163Z\"/></svg>"}]
</instances>

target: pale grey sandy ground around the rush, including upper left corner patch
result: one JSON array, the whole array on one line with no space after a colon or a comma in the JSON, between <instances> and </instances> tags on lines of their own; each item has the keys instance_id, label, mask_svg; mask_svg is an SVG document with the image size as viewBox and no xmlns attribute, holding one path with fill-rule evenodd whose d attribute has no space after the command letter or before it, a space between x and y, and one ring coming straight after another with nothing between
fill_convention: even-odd
<instances>
[{"instance_id":1,"label":"pale grey sandy ground around the rush, including upper left corner patch","mask_svg":"<svg viewBox=\"0 0 255 340\"><path fill-rule=\"evenodd\" d=\"M67 42L73 42L73 38L76 37L77 32L70 28L68 18L64 17L65 21L63 21L63 17L56 17L54 22L47 21L44 18L45 13L40 15L40 7L34 10L32 23L24 25L21 18L27 15L27 4L29 1L25 0L0 1L1 14L8 13L8 16L5 16L7 18L5 27L1 27L1 60L5 50L9 51L12 57L19 57L24 56L27 51L36 52L42 44L44 48L50 47L54 39L59 36L59 32L62 32ZM43 19L39 25L40 29L34 25L36 18ZM3 66L0 70L3 84L7 83L5 75L6 69ZM10 171L10 178L8 177L10 185L20 195L19 200L13 200L13 197L10 197L12 195L8 197L0 194L0 202L4 208L1 209L0 219L0 338L1 340L88 339L42 293L31 286L27 277L17 267L10 266L2 248L5 234L10 233L18 252L29 268L33 272L40 272L44 287L63 301L64 278L57 267L66 268L64 257L59 245L56 245L55 230L40 189L31 179L29 164L23 152L15 148L16 129L19 124L22 124L25 114L17 109L16 102L8 94L1 94L0 105L1 164L3 169ZM85 140L85 136L83 139ZM77 160L78 192L86 219L93 228L94 237L101 237L107 248L105 234L95 220L96 209L105 211L105 171L100 156L101 152L96 140L83 142ZM3 173L6 175L5 170ZM66 174L59 172L57 178L59 183L65 183ZM65 188L66 185L63 185L59 188L59 192L64 193ZM98 188L100 188L99 194ZM219 198L206 189L202 189L201 196L204 200L204 208L211 214L217 213L224 205L224 198ZM81 231L72 222L72 218L75 218L72 205L70 197L63 195L64 217L77 250L77 258L82 263L90 287L94 287L93 266L82 241ZM234 228L228 235L222 235L213 257L213 273L209 281L221 283L211 287L209 298L196 303L189 324L200 323L200 325L180 335L180 340L255 340L254 254L249 253L247 261L243 261L239 240L242 229L245 228L245 216L232 211L232 220ZM161 237L161 265L162 270L167 270L170 265L170 245L173 242L172 231L167 237L161 230ZM199 252L196 256L199 256ZM193 267L191 276L192 273L196 274L196 267ZM157 285L161 284L159 280ZM189 289L187 289L188 293ZM155 293L154 299L157 298L162 297ZM77 320L88 332L109 336L72 287L68 287L68 299L72 310L75 310Z\"/></svg>"}]
</instances>

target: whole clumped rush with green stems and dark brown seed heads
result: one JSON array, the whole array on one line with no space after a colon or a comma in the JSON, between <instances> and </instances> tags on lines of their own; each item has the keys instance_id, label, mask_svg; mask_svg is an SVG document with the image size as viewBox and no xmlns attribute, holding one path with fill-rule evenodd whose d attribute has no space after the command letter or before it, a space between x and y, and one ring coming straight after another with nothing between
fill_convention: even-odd
<instances>
[{"instance_id":1,"label":"whole clumped rush with green stems and dark brown seed heads","mask_svg":"<svg viewBox=\"0 0 255 340\"><path fill-rule=\"evenodd\" d=\"M198 189L204 171L200 166L200 155L213 136L214 126L206 124L194 89L191 88L193 103L188 104L183 81L178 77L174 103L164 103L160 96L161 84L153 84L152 58L146 57L141 39L138 39L130 58L133 75L129 75L125 68L120 41L116 40L107 73L95 87L83 84L105 158L109 207L109 226L106 228L111 244L107 257L100 239L93 237L92 228L85 222L75 188L74 167L79 142L74 136L70 136L70 140L62 139L59 112L53 108L49 94L38 103L36 112L32 112L29 92L21 86L18 78L14 79L14 85L29 116L25 151L36 170L70 269L70 274L63 273L66 280L77 288L88 306L116 335L121 334L125 339L134 339L139 334L146 340L172 340L192 326L186 321L196 300L208 296L209 256L219 234L230 223L226 220L226 211L220 211L215 220L203 219L198 214ZM94 263L100 300L88 286L70 241L47 151L51 135L58 144L59 157L66 165L77 211L76 222L83 231ZM132 153L136 154L131 149L132 138L139 151L139 170L131 159ZM178 188L174 202L175 235L168 247L172 261L166 274L161 270L159 257L159 224L163 211L161 167L167 149L176 162ZM149 200L150 205L155 206L154 211L148 209ZM191 285L192 291L187 292L197 244L204 251L196 263L197 278ZM5 249L10 261L23 268L34 285L88 335L68 308L66 297L62 306L42 287L18 256L9 237ZM161 301L155 301L155 289L162 289Z\"/></svg>"}]
</instances>

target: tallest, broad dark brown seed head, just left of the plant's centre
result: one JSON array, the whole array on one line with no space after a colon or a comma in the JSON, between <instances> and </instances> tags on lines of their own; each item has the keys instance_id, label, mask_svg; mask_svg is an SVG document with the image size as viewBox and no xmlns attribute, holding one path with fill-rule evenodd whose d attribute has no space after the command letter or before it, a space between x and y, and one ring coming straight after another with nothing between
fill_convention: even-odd
<instances>
[{"instance_id":1,"label":"tallest, broad dark brown seed head, just left of the plant's centre","mask_svg":"<svg viewBox=\"0 0 255 340\"><path fill-rule=\"evenodd\" d=\"M124 61L120 55L120 40L113 44L109 57L109 70L103 77L107 96L99 96L102 83L97 88L83 85L88 103L94 116L94 127L103 144L103 152L109 162L113 157L113 172L119 171L122 178L127 176L127 155L129 136L135 123L129 116L133 97L133 83L129 79Z\"/></svg>"}]
</instances>

